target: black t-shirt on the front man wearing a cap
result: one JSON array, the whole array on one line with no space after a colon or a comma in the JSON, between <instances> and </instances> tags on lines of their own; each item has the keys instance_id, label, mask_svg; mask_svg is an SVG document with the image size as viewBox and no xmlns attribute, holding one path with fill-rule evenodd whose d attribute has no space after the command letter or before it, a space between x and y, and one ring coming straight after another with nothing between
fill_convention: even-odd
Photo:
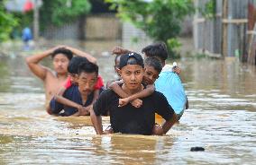
<instances>
[{"instance_id":1,"label":"black t-shirt on the front man wearing a cap","mask_svg":"<svg viewBox=\"0 0 256 165\"><path fill-rule=\"evenodd\" d=\"M151 135L155 124L155 113L169 120L174 110L162 93L154 91L151 96L142 98L142 107L134 108L131 103L118 107L120 97L112 90L103 91L96 103L96 116L104 115L108 110L114 133Z\"/></svg>"}]
</instances>

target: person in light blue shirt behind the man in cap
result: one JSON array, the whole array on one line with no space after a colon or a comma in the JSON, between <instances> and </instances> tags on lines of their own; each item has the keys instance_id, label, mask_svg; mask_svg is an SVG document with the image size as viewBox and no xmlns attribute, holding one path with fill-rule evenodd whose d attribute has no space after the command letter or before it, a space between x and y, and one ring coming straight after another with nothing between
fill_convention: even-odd
<instances>
[{"instance_id":1,"label":"person in light blue shirt behind the man in cap","mask_svg":"<svg viewBox=\"0 0 256 165\"><path fill-rule=\"evenodd\" d=\"M131 52L130 50L116 47L113 50L113 54L125 54ZM156 57L160 60L162 71L160 77L155 82L156 91L160 91L166 97L169 105L175 110L175 113L179 118L182 116L185 109L188 109L188 100L181 83L178 74L180 74L180 68L178 66L173 67L166 65L166 59L168 58L167 46L164 42L158 42L151 44L145 48L142 48L142 53L145 59L148 57Z\"/></svg>"}]
</instances>

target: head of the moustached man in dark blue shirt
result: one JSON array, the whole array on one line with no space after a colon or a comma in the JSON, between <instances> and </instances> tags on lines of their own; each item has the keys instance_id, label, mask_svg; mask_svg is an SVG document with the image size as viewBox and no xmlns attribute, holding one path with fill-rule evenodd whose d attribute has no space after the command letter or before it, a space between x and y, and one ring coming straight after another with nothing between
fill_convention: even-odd
<instances>
[{"instance_id":1,"label":"head of the moustached man in dark blue shirt","mask_svg":"<svg viewBox=\"0 0 256 165\"><path fill-rule=\"evenodd\" d=\"M91 62L83 62L78 66L78 90L83 95L94 91L98 75L98 66Z\"/></svg>"}]
</instances>

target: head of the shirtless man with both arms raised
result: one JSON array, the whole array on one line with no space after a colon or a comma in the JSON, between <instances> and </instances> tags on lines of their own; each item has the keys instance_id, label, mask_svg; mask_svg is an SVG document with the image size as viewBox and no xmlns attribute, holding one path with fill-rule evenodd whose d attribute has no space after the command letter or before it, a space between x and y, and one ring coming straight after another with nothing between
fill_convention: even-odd
<instances>
[{"instance_id":1,"label":"head of the shirtless man with both arms raised","mask_svg":"<svg viewBox=\"0 0 256 165\"><path fill-rule=\"evenodd\" d=\"M53 69L57 74L67 74L69 61L73 53L66 48L58 48L51 55L53 59Z\"/></svg>"}]
</instances>

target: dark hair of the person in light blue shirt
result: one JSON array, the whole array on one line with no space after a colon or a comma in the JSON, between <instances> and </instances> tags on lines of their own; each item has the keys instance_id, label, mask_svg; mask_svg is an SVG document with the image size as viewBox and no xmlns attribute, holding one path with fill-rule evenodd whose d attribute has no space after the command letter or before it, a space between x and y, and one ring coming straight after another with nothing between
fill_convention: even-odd
<instances>
[{"instance_id":1,"label":"dark hair of the person in light blue shirt","mask_svg":"<svg viewBox=\"0 0 256 165\"><path fill-rule=\"evenodd\" d=\"M162 61L168 58L168 50L164 42L157 42L142 48L142 53L146 56L158 56Z\"/></svg>"}]
</instances>

